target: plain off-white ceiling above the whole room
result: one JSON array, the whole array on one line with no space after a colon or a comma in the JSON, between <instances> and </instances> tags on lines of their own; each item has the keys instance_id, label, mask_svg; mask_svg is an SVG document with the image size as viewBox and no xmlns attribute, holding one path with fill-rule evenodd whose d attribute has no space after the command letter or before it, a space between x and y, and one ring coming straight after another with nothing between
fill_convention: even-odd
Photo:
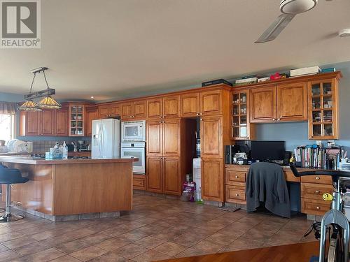
<instances>
[{"instance_id":1,"label":"plain off-white ceiling above the whole room","mask_svg":"<svg viewBox=\"0 0 350 262\"><path fill-rule=\"evenodd\" d=\"M279 0L41 0L41 49L0 50L0 92L48 66L60 99L120 99L251 72L350 61L350 1L319 0L279 38L253 42ZM45 86L40 80L34 91ZM1 99L0 99L1 100Z\"/></svg>"}]
</instances>

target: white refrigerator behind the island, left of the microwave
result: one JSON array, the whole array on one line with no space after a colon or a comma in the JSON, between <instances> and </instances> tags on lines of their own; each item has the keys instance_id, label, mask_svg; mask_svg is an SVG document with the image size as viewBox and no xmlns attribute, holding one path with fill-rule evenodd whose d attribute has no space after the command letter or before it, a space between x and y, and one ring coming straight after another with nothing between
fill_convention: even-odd
<instances>
[{"instance_id":1,"label":"white refrigerator behind the island, left of the microwave","mask_svg":"<svg viewBox=\"0 0 350 262\"><path fill-rule=\"evenodd\" d=\"M93 159L109 159L120 157L120 120L98 119L92 120Z\"/></svg>"}]
</instances>

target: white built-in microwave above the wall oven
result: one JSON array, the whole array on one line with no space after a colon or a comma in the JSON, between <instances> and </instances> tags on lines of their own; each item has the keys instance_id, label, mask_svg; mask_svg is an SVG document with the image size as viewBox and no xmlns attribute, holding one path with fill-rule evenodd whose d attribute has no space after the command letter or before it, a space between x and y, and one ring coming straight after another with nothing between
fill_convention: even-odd
<instances>
[{"instance_id":1,"label":"white built-in microwave above the wall oven","mask_svg":"<svg viewBox=\"0 0 350 262\"><path fill-rule=\"evenodd\" d=\"M146 141L146 121L122 122L122 142Z\"/></svg>"}]
</instances>

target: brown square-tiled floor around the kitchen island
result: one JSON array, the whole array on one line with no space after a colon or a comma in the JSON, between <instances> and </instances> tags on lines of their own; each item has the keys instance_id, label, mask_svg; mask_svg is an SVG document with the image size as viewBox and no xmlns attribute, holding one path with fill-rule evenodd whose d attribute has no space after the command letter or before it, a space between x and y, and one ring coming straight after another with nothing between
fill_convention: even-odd
<instances>
[{"instance_id":1,"label":"brown square-tiled floor around the kitchen island","mask_svg":"<svg viewBox=\"0 0 350 262\"><path fill-rule=\"evenodd\" d=\"M314 241L310 223L135 194L120 218L0 224L0 261L156 261Z\"/></svg>"}]
</instances>

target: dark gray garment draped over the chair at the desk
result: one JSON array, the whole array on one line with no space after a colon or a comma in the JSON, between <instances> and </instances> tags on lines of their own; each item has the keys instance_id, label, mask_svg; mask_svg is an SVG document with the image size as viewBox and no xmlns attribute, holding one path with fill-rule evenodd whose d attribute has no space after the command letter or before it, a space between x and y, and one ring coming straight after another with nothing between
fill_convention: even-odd
<instances>
[{"instance_id":1,"label":"dark gray garment draped over the chair at the desk","mask_svg":"<svg viewBox=\"0 0 350 262\"><path fill-rule=\"evenodd\" d=\"M290 200L281 166L275 163L253 163L246 180L246 211L265 208L281 217L290 217Z\"/></svg>"}]
</instances>

